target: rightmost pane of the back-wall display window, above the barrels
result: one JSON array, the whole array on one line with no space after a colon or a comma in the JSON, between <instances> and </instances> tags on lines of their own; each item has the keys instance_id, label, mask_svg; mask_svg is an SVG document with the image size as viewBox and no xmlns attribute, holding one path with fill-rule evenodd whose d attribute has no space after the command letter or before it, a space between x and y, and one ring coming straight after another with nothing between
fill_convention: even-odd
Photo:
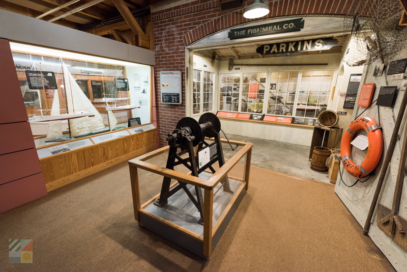
<instances>
[{"instance_id":1,"label":"rightmost pane of the back-wall display window, above the barrels","mask_svg":"<svg viewBox=\"0 0 407 272\"><path fill-rule=\"evenodd\" d=\"M333 71L303 71L297 93L296 116L317 118L328 106Z\"/></svg>"}]
</instances>

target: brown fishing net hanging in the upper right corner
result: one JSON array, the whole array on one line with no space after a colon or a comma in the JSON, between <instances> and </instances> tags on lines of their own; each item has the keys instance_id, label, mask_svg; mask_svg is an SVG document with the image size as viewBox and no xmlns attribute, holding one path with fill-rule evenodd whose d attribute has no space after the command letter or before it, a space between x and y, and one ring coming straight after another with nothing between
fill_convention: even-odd
<instances>
[{"instance_id":1,"label":"brown fishing net hanging in the upper right corner","mask_svg":"<svg viewBox=\"0 0 407 272\"><path fill-rule=\"evenodd\" d=\"M371 64L407 47L407 28L399 25L399 0L364 0L343 22L343 61L349 66Z\"/></svg>"}]
</instances>

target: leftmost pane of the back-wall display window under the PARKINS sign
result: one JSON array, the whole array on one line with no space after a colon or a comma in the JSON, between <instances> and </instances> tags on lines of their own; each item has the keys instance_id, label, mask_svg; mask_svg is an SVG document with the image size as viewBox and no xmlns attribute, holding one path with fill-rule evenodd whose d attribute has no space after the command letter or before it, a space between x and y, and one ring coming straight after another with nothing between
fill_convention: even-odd
<instances>
[{"instance_id":1,"label":"leftmost pane of the back-wall display window under the PARKINS sign","mask_svg":"<svg viewBox=\"0 0 407 272\"><path fill-rule=\"evenodd\" d=\"M240 73L221 73L219 110L228 112L239 111L239 91L241 88Z\"/></svg>"}]
</instances>

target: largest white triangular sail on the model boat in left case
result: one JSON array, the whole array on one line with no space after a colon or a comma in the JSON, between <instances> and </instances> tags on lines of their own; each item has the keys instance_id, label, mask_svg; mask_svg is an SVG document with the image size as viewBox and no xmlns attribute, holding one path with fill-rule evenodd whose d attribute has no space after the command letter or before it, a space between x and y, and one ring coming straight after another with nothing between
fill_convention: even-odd
<instances>
[{"instance_id":1,"label":"largest white triangular sail on the model boat in left case","mask_svg":"<svg viewBox=\"0 0 407 272\"><path fill-rule=\"evenodd\" d=\"M90 133L93 130L104 128L103 118L89 101L88 97L82 92L75 79L68 71L65 63L62 62L64 70L64 84L67 98L67 108L69 113L92 112L94 117L82 117L69 120L71 135L78 136Z\"/></svg>"}]
</instances>

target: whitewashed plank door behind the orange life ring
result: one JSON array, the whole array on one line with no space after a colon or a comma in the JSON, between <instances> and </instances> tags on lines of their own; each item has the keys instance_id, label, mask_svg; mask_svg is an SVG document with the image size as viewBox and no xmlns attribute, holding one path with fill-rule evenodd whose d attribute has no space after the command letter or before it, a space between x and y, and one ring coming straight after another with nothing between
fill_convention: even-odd
<instances>
[{"instance_id":1,"label":"whitewashed plank door behind the orange life ring","mask_svg":"<svg viewBox=\"0 0 407 272\"><path fill-rule=\"evenodd\" d=\"M399 52L394 53L391 58L385 60L385 64L388 67L390 61L399 60L407 58L407 50L402 50ZM382 76L373 76L374 66L379 62L375 62L372 65L364 66L363 67L363 75L361 80L361 86L363 83L375 83L376 90L374 92L372 101L377 98L379 94L379 89L381 86L398 86L397 89L397 98L393 108L391 107L380 107L380 118L381 118L381 126L383 127L383 135L384 135L384 151L382 155L382 160L379 166L375 170L375 175L373 175L368 181L364 183L357 183L355 186L348 188L346 187L343 182L340 180L340 175L338 175L338 180L335 186L335 192L338 197L342 200L343 204L350 210L350 212L355 216L356 220L359 222L361 227L363 228L365 225L367 213L370 208L370 204L373 198L373 194L376 188L377 181L380 176L380 172L382 170L383 160L386 156L387 149L389 146L390 138L393 133L394 122L399 112L400 102L404 92L399 92L399 88L401 86L402 80L392 80L391 75L387 76L387 68L383 71ZM360 87L361 87L360 86ZM359 88L359 93L360 93ZM357 104L357 101L356 101ZM364 107L355 107L355 111L353 115L359 115L363 110ZM377 114L377 106L372 106L367 110L362 116L367 116L374 119L377 123L379 122L379 116ZM400 128L399 139L402 138L402 133L404 131L405 126L405 114L404 119ZM364 132L365 134L365 132ZM379 203L391 209L393 203L393 194L395 189L395 183L397 178L397 171L399 165L399 158L401 153L401 144L400 141L397 142L391 164L388 170L388 175L385 179L383 190L381 197L379 198ZM354 158L355 164L360 164L363 158L366 155L365 151L360 151L357 148L352 149L352 157ZM348 174L346 171L343 170L341 165L341 173L343 176L343 181L346 184L351 185L356 181L356 178ZM407 219L407 184L406 178L404 177L403 181L403 190L402 190L402 197L400 203L400 211L399 214ZM362 228L360 232L362 233ZM397 271L407 271L407 253L402 250L395 242L392 241L390 237L384 234L379 228L377 228L376 224L376 214L373 215L373 224L370 227L369 234L370 238L376 244L376 246L384 253L386 258L389 259L391 264Z\"/></svg>"}]
</instances>

